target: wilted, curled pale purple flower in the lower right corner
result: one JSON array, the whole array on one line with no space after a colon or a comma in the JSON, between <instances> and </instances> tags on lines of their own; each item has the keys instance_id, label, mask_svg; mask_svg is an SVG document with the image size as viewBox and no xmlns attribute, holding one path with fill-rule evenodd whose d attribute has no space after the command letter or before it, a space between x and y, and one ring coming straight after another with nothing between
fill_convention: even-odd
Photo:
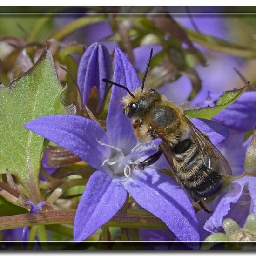
<instances>
[{"instance_id":1,"label":"wilted, curled pale purple flower in the lower right corner","mask_svg":"<svg viewBox=\"0 0 256 256\"><path fill-rule=\"evenodd\" d=\"M248 188L251 197L252 211L256 217L256 177L248 175L231 182L228 191L226 191L225 195L221 198L213 215L205 223L204 229L209 232L218 232L222 230L222 222L224 217L229 213L230 204L238 201L243 194L245 186Z\"/></svg>"}]
</instances>

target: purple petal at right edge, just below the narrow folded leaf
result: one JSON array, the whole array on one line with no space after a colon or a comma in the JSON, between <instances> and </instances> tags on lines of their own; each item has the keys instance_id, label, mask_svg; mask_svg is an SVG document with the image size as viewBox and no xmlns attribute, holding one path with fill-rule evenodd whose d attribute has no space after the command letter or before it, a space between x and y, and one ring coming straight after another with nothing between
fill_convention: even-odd
<instances>
[{"instance_id":1,"label":"purple petal at right edge, just below the narrow folded leaf","mask_svg":"<svg viewBox=\"0 0 256 256\"><path fill-rule=\"evenodd\" d=\"M245 92L241 97L214 117L225 126L248 131L256 124L256 92Z\"/></svg>"}]
</instances>

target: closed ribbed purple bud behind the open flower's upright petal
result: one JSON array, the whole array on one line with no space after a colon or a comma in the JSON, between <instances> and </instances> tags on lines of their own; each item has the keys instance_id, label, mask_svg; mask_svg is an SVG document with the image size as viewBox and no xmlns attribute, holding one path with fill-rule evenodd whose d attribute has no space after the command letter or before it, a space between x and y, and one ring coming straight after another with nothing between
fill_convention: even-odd
<instances>
[{"instance_id":1,"label":"closed ribbed purple bud behind the open flower's upright petal","mask_svg":"<svg viewBox=\"0 0 256 256\"><path fill-rule=\"evenodd\" d=\"M83 54L78 67L77 82L83 106L87 104L90 90L96 86L98 94L97 111L101 109L108 84L102 78L110 79L112 61L108 49L100 44L90 45Z\"/></svg>"}]
</instances>

